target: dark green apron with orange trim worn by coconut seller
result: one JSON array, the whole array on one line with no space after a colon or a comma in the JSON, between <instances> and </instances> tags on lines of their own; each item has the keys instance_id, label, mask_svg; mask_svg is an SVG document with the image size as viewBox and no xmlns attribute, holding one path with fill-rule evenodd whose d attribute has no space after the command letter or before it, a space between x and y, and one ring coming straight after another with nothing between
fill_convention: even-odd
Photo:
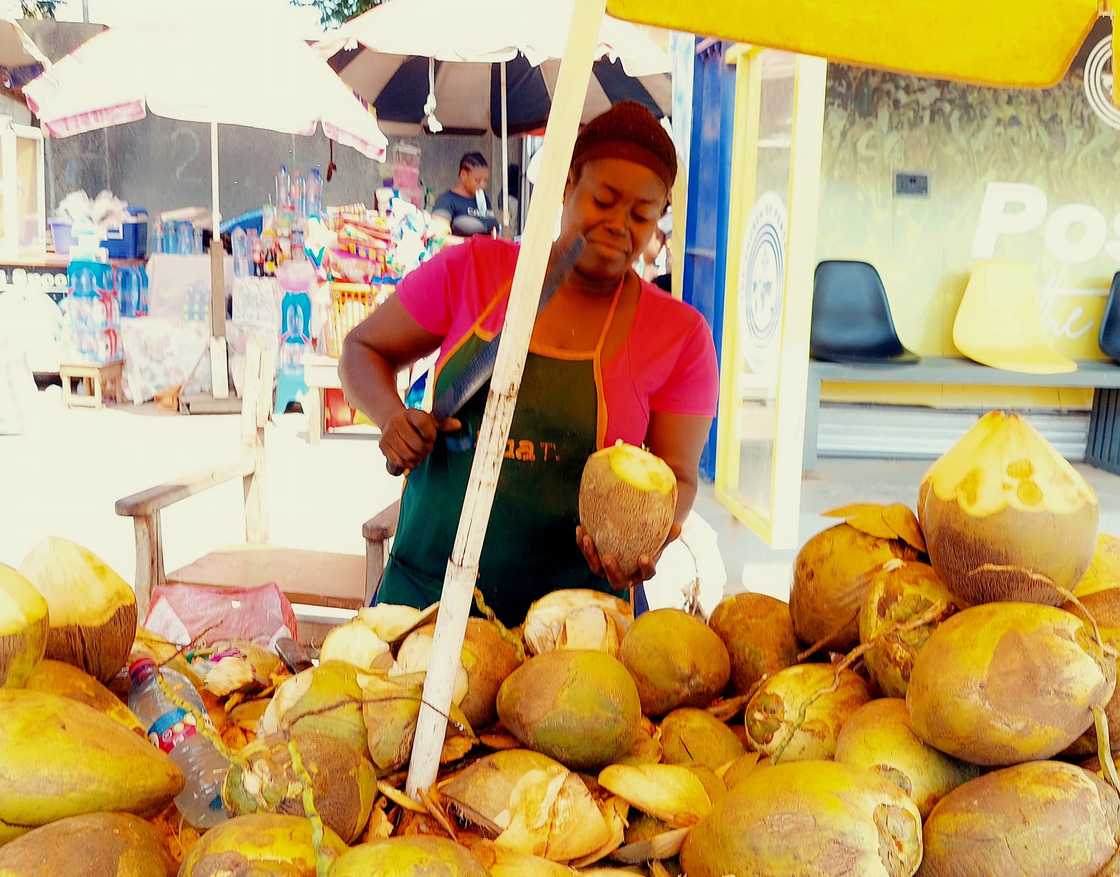
<instances>
[{"instance_id":1,"label":"dark green apron with orange trim worn by coconut seller","mask_svg":"<svg viewBox=\"0 0 1120 877\"><path fill-rule=\"evenodd\" d=\"M622 286L591 353L530 345L479 565L478 587L507 626L521 624L533 600L558 588L610 591L606 579L588 569L576 526L584 464L606 431L600 357L620 293ZM491 339L482 324L503 298L495 298L439 367L437 394ZM463 430L440 433L432 453L409 474L375 603L422 608L439 599L488 389L459 412Z\"/></svg>"}]
</instances>

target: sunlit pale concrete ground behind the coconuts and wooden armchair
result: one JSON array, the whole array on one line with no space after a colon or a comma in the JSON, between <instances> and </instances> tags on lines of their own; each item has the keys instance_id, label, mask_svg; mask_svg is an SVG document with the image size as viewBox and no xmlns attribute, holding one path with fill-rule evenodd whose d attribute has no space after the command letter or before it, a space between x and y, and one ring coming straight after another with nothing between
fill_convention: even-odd
<instances>
[{"instance_id":1,"label":"sunlit pale concrete ground behind the coconuts and wooden armchair","mask_svg":"<svg viewBox=\"0 0 1120 877\"><path fill-rule=\"evenodd\" d=\"M113 503L136 491L235 459L236 417L178 417L152 405L66 410L57 388L36 396L36 422L0 436L0 562L18 565L35 542L56 534L97 552L124 578L134 570L132 523ZM392 502L400 483L385 473L368 436L305 440L289 414L269 436L268 509L273 544L362 553L362 523ZM802 484L801 541L830 525L820 513L859 501L913 505L928 466L914 460L825 459ZM1081 469L1101 500L1101 526L1120 532L1120 477ZM718 534L727 591L785 597L794 550L772 551L701 488L697 511ZM168 569L241 541L241 485L231 483L165 512Z\"/></svg>"}]
</instances>

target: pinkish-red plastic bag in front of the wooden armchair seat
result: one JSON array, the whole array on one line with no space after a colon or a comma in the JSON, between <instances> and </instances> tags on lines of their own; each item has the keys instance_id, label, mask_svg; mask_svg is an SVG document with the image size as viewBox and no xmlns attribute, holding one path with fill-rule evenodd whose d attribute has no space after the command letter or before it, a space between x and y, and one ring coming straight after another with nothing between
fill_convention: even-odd
<instances>
[{"instance_id":1,"label":"pinkish-red plastic bag in front of the wooden armchair seat","mask_svg":"<svg viewBox=\"0 0 1120 877\"><path fill-rule=\"evenodd\" d=\"M168 642L215 643L248 640L270 649L298 638L296 613L276 584L255 588L162 585L151 595L144 627Z\"/></svg>"}]
</instances>

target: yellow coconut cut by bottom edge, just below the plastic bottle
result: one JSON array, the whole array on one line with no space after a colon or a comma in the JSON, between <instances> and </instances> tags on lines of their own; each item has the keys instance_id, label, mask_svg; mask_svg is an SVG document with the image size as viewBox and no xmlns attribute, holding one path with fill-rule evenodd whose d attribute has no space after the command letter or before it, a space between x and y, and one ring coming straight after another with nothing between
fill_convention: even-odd
<instances>
[{"instance_id":1,"label":"yellow coconut cut by bottom edge, just below the plastic bottle","mask_svg":"<svg viewBox=\"0 0 1120 877\"><path fill-rule=\"evenodd\" d=\"M179 877L272 875L316 877L314 828L309 819L255 814L236 817L212 828L190 848ZM329 828L324 830L320 855L328 864L346 851Z\"/></svg>"}]
</instances>

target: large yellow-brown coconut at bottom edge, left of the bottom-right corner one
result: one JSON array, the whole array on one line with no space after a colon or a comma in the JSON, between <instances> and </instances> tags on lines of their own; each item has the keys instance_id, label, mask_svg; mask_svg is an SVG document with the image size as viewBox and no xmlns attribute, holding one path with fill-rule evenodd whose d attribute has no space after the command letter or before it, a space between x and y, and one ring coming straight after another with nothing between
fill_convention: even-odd
<instances>
[{"instance_id":1,"label":"large yellow-brown coconut at bottom edge, left of the bottom-right corner one","mask_svg":"<svg viewBox=\"0 0 1120 877\"><path fill-rule=\"evenodd\" d=\"M914 802L893 783L834 762L755 769L681 850L689 877L911 877L921 861Z\"/></svg>"}]
</instances>

